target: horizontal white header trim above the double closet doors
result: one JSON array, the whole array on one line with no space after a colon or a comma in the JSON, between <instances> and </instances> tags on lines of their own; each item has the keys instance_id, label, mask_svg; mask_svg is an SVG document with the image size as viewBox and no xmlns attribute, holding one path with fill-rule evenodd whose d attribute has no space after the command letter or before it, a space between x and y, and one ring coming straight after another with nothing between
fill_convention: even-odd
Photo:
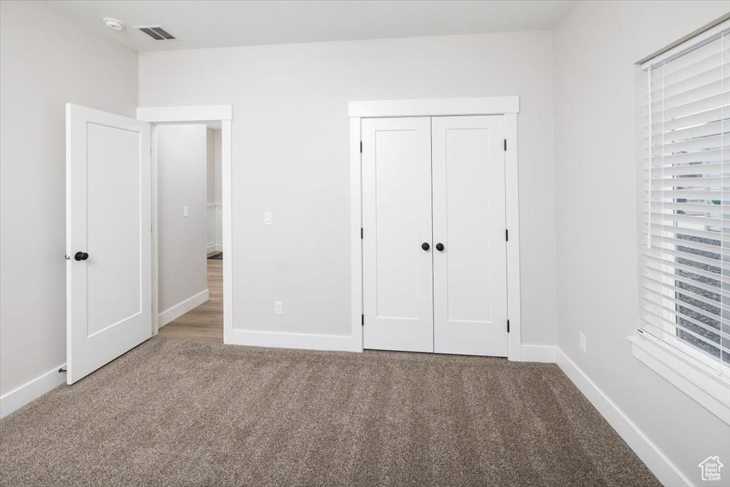
<instances>
[{"instance_id":1,"label":"horizontal white header trim above the double closet doors","mask_svg":"<svg viewBox=\"0 0 730 487\"><path fill-rule=\"evenodd\" d=\"M505 113L519 112L519 96L441 98L426 100L350 101L349 105L350 118L504 115Z\"/></svg>"}]
</instances>

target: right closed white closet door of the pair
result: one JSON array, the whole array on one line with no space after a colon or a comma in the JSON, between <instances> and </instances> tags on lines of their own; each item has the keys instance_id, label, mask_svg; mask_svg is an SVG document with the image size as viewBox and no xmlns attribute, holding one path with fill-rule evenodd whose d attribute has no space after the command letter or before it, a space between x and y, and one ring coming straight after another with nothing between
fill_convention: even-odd
<instances>
[{"instance_id":1,"label":"right closed white closet door of the pair","mask_svg":"<svg viewBox=\"0 0 730 487\"><path fill-rule=\"evenodd\" d=\"M434 351L506 357L504 119L434 117L431 125Z\"/></svg>"}]
</instances>

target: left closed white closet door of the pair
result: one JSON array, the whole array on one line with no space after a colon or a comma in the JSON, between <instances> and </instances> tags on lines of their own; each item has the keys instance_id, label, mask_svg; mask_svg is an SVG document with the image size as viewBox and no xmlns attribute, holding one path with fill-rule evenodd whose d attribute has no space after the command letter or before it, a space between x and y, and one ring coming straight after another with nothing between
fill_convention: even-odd
<instances>
[{"instance_id":1,"label":"left closed white closet door of the pair","mask_svg":"<svg viewBox=\"0 0 730 487\"><path fill-rule=\"evenodd\" d=\"M432 352L431 120L361 130L364 347Z\"/></svg>"}]
</instances>

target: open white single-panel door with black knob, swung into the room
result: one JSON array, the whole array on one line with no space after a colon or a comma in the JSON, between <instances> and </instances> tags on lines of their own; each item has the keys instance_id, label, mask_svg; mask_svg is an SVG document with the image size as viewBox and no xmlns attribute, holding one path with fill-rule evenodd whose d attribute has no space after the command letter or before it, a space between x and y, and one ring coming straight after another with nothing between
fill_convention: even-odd
<instances>
[{"instance_id":1,"label":"open white single-panel door with black knob, swung into the room","mask_svg":"<svg viewBox=\"0 0 730 487\"><path fill-rule=\"evenodd\" d=\"M152 336L150 124L66 104L72 384Z\"/></svg>"}]
</instances>

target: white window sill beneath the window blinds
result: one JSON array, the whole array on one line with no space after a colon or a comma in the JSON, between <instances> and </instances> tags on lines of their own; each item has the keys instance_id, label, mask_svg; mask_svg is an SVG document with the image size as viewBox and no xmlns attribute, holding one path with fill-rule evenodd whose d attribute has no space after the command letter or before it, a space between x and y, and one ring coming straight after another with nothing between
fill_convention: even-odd
<instances>
[{"instance_id":1,"label":"white window sill beneath the window blinds","mask_svg":"<svg viewBox=\"0 0 730 487\"><path fill-rule=\"evenodd\" d=\"M648 334L629 336L634 357L725 423L730 424L730 379Z\"/></svg>"}]
</instances>

